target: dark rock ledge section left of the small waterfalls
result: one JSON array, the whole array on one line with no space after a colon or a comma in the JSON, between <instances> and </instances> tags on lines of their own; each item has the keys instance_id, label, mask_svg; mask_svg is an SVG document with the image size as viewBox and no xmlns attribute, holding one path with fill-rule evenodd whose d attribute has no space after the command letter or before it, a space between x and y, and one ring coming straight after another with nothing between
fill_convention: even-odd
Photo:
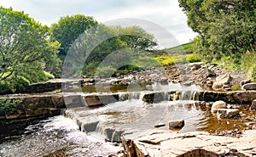
<instances>
[{"instance_id":1,"label":"dark rock ledge section left of the small waterfalls","mask_svg":"<svg viewBox=\"0 0 256 157\"><path fill-rule=\"evenodd\" d=\"M94 108L117 101L125 101L129 94L59 93L41 95L7 95L0 97L0 119L20 119L60 115L61 109Z\"/></svg>"}]
</instances>

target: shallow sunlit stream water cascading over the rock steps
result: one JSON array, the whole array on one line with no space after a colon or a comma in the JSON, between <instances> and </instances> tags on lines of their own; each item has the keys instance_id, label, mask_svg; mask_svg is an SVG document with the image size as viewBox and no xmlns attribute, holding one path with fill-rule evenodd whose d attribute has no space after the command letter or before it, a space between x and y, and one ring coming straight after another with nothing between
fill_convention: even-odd
<instances>
[{"instance_id":1,"label":"shallow sunlit stream water cascading over the rock steps","mask_svg":"<svg viewBox=\"0 0 256 157\"><path fill-rule=\"evenodd\" d=\"M158 123L166 124L159 129L169 130L169 121L183 119L185 126L178 132L204 131L219 125L207 105L193 101L194 93L201 91L200 87L153 83L146 84L145 88L137 84L114 88L102 87L104 93L119 93L119 100L124 97L125 101L94 109L67 109L66 117L59 115L27 126L21 134L1 140L0 156L44 156L70 146L79 146L80 149L67 152L67 156L106 156L121 149L112 144L119 143L121 137L142 136L156 129L154 125ZM174 90L181 91L177 101L143 102L144 93ZM124 91L128 91L128 99ZM84 91L84 94L91 92ZM230 121L229 124L233 125Z\"/></svg>"}]
</instances>

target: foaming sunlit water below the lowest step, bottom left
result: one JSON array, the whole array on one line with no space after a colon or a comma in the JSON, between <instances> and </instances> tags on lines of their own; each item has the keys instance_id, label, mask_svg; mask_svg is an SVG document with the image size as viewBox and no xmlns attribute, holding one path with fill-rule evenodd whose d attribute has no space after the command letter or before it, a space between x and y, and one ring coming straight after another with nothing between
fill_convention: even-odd
<instances>
[{"instance_id":1,"label":"foaming sunlit water below the lowest step, bottom left","mask_svg":"<svg viewBox=\"0 0 256 157\"><path fill-rule=\"evenodd\" d=\"M0 143L0 156L43 156L68 146L81 146L77 154L87 157L105 156L118 151L109 143L102 143L79 131L79 126L62 115L26 127L26 133Z\"/></svg>"}]
</instances>

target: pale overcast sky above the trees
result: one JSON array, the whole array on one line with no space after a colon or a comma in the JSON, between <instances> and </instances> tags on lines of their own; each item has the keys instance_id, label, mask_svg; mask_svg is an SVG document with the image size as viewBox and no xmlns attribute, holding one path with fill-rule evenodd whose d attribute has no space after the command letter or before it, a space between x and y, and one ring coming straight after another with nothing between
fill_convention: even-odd
<instances>
[{"instance_id":1,"label":"pale overcast sky above the trees","mask_svg":"<svg viewBox=\"0 0 256 157\"><path fill-rule=\"evenodd\" d=\"M164 47L189 42L195 36L177 0L1 0L0 6L24 11L43 25L51 25L60 17L72 14L93 16L101 23L121 18L148 20L177 39L177 42L170 39L170 44ZM160 38L164 35L157 36L158 41Z\"/></svg>"}]
</instances>

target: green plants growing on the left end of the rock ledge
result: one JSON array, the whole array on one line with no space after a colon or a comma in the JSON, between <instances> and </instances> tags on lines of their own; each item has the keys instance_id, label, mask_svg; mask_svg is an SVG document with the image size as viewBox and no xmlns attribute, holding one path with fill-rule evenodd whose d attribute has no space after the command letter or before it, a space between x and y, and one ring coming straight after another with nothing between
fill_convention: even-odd
<instances>
[{"instance_id":1,"label":"green plants growing on the left end of the rock ledge","mask_svg":"<svg viewBox=\"0 0 256 157\"><path fill-rule=\"evenodd\" d=\"M0 115L11 115L16 113L18 105L22 102L22 98L0 98Z\"/></svg>"}]
</instances>

